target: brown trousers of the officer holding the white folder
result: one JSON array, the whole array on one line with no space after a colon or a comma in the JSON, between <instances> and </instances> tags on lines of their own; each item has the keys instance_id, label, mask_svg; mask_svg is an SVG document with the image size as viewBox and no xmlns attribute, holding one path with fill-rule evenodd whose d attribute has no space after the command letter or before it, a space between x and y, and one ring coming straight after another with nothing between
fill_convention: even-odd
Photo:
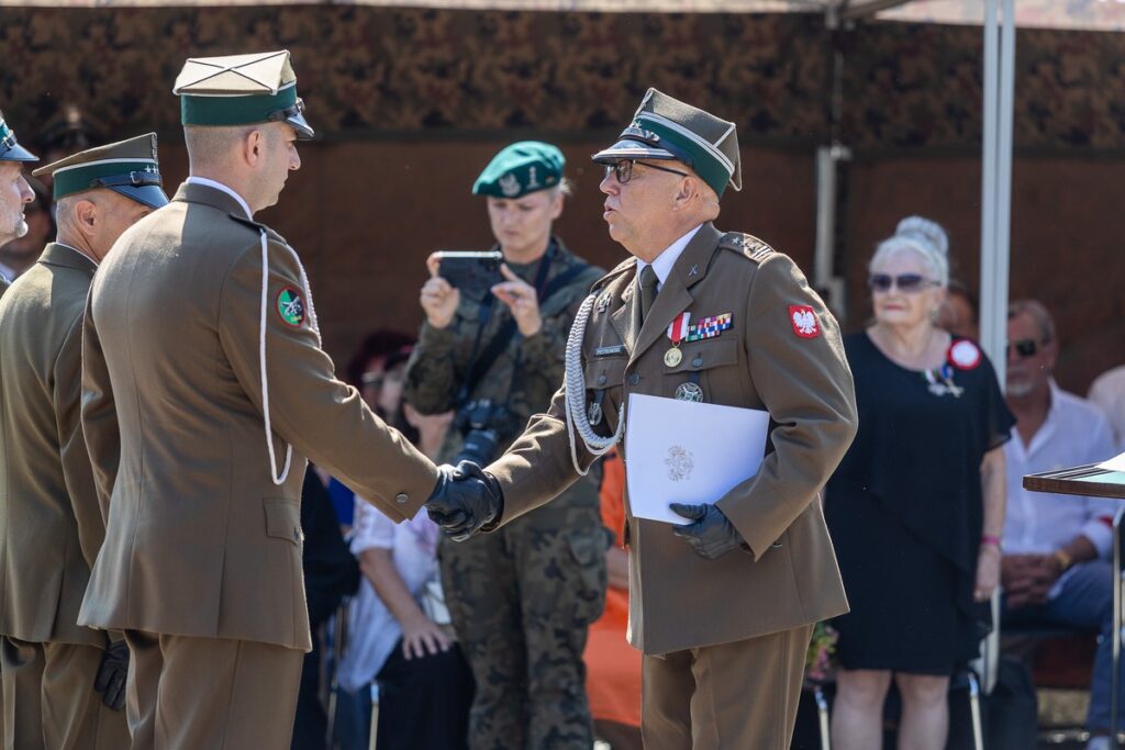
<instances>
[{"instance_id":1,"label":"brown trousers of the officer holding the white folder","mask_svg":"<svg viewBox=\"0 0 1125 750\"><path fill-rule=\"evenodd\" d=\"M812 625L646 654L645 750L789 750Z\"/></svg>"}]
</instances>

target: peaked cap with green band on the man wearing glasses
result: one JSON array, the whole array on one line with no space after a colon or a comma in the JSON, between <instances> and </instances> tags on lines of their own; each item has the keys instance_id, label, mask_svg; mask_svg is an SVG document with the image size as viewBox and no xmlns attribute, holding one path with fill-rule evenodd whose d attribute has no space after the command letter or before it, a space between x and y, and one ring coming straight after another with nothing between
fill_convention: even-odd
<instances>
[{"instance_id":1,"label":"peaked cap with green band on the man wearing glasses","mask_svg":"<svg viewBox=\"0 0 1125 750\"><path fill-rule=\"evenodd\" d=\"M594 161L602 164L624 159L681 161L719 196L728 184L742 189L735 124L656 89L645 94L618 142L594 154Z\"/></svg>"}]
</instances>

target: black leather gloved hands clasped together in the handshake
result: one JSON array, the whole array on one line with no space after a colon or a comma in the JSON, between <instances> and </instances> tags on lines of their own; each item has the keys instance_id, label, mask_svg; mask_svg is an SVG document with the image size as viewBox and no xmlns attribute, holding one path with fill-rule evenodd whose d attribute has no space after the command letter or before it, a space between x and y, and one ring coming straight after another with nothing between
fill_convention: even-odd
<instances>
[{"instance_id":1,"label":"black leather gloved hands clasped together in the handshake","mask_svg":"<svg viewBox=\"0 0 1125 750\"><path fill-rule=\"evenodd\" d=\"M454 542L464 542L504 512L496 478L471 461L439 467L438 484L425 501L430 518Z\"/></svg>"}]
</instances>

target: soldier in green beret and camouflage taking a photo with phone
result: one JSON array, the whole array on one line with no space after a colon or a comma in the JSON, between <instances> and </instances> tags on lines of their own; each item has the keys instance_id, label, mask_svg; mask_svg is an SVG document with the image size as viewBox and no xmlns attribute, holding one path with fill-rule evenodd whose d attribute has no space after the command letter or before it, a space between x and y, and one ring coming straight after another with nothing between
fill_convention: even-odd
<instances>
[{"instance_id":1,"label":"soldier in green beret and camouflage taking a photo with phone","mask_svg":"<svg viewBox=\"0 0 1125 750\"><path fill-rule=\"evenodd\" d=\"M472 192L487 197L503 280L458 290L429 261L426 322L407 365L406 399L424 414L458 409L441 460L469 450L482 466L492 461L547 407L562 377L570 323L602 273L550 233L562 209L564 163L555 146L516 143L477 179ZM479 455L490 441L495 453ZM591 478L502 532L443 540L446 599L477 684L474 750L590 750L582 653L604 604L606 545Z\"/></svg>"}]
</instances>

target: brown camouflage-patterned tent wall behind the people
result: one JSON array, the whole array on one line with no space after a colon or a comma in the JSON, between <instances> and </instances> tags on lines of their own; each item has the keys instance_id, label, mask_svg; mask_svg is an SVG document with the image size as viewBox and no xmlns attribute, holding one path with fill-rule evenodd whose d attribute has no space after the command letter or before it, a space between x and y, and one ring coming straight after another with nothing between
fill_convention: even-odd
<instances>
[{"instance_id":1,"label":"brown camouflage-patterned tent wall behind the people","mask_svg":"<svg viewBox=\"0 0 1125 750\"><path fill-rule=\"evenodd\" d=\"M846 61L839 136L855 154L840 217L847 327L867 314L874 243L904 214L942 222L958 274L978 277L976 27L874 22L834 36L798 13L0 8L0 108L25 143L71 102L107 138L154 129L174 186L187 170L171 94L183 60L279 47L323 139L262 219L305 259L338 361L372 327L414 328L428 252L490 243L468 191L511 141L564 148L578 195L557 228L612 266L622 251L605 236L588 155L649 85L738 123L747 187L724 197L718 224L808 268L834 47ZM1018 34L1011 292L1055 310L1060 380L1081 392L1125 362L1123 67L1125 35Z\"/></svg>"}]
</instances>

